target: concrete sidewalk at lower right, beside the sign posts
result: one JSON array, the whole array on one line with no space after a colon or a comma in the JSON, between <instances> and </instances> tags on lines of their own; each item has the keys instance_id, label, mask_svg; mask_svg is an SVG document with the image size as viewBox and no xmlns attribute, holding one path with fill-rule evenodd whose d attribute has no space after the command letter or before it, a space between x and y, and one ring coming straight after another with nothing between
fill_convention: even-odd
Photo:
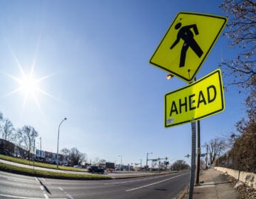
<instances>
[{"instance_id":1,"label":"concrete sidewalk at lower right, beside the sign posts","mask_svg":"<svg viewBox=\"0 0 256 199\"><path fill-rule=\"evenodd\" d=\"M220 171L213 168L204 170L200 176L200 185L195 185L193 189L193 199L235 199L238 198L238 190L235 190L225 176ZM182 199L188 198L188 191L180 195Z\"/></svg>"}]
</instances>

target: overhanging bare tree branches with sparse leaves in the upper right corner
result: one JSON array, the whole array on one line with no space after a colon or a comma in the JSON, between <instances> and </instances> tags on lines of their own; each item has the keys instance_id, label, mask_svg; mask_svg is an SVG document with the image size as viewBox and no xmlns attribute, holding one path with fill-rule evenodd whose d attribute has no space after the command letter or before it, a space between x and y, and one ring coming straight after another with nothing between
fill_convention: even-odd
<instances>
[{"instance_id":1,"label":"overhanging bare tree branches with sparse leaves in the upper right corner","mask_svg":"<svg viewBox=\"0 0 256 199\"><path fill-rule=\"evenodd\" d=\"M228 14L228 25L225 35L229 45L237 48L238 53L232 60L223 60L224 74L233 75L233 82L245 88L255 85L256 75L256 3L250 0L224 0L220 5Z\"/></svg>"}]
</instances>

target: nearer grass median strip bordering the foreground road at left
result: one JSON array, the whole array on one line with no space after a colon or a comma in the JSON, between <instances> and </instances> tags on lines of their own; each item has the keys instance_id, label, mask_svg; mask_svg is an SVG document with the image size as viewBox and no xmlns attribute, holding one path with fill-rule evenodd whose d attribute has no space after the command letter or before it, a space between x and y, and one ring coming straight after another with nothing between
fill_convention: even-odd
<instances>
[{"instance_id":1,"label":"nearer grass median strip bordering the foreground road at left","mask_svg":"<svg viewBox=\"0 0 256 199\"><path fill-rule=\"evenodd\" d=\"M73 173L57 173L52 171L33 170L31 168L23 168L13 166L6 163L0 163L0 171L9 173L18 173L26 176L36 176L41 178L57 178L66 180L109 180L109 176L97 174L73 174Z\"/></svg>"}]
</instances>

